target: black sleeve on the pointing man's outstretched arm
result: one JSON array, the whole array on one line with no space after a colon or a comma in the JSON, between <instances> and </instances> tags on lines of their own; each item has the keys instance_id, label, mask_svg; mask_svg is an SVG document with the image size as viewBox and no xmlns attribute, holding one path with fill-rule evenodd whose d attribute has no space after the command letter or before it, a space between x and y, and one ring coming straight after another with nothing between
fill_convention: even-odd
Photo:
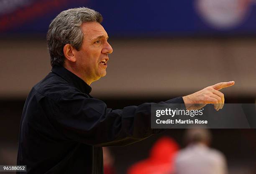
<instances>
[{"instance_id":1,"label":"black sleeve on the pointing man's outstretched arm","mask_svg":"<svg viewBox=\"0 0 256 174\"><path fill-rule=\"evenodd\" d=\"M183 103L182 97L161 103ZM124 146L164 131L151 129L151 103L113 110L84 93L68 92L51 109L55 127L72 141L93 146Z\"/></svg>"}]
</instances>

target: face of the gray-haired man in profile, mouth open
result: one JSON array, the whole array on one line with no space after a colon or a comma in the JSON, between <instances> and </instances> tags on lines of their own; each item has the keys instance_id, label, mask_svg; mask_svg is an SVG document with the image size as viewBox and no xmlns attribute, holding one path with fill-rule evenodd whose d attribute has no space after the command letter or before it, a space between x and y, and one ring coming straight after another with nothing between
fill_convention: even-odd
<instances>
[{"instance_id":1,"label":"face of the gray-haired man in profile, mouth open","mask_svg":"<svg viewBox=\"0 0 256 174\"><path fill-rule=\"evenodd\" d=\"M79 51L76 51L76 63L84 80L90 85L93 81L106 76L108 54L113 52L108 43L108 34L97 22L82 24L84 40Z\"/></svg>"}]
</instances>

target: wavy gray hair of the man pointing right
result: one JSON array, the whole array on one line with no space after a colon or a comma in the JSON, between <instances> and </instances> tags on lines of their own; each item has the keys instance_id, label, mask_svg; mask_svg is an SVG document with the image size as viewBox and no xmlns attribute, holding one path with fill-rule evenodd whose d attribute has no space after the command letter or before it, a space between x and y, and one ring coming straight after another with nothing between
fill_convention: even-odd
<instances>
[{"instance_id":1,"label":"wavy gray hair of the man pointing right","mask_svg":"<svg viewBox=\"0 0 256 174\"><path fill-rule=\"evenodd\" d=\"M47 32L47 45L51 57L51 66L63 66L64 45L70 44L80 50L84 34L81 25L84 22L101 23L102 15L90 8L73 8L62 11L51 21Z\"/></svg>"}]
</instances>

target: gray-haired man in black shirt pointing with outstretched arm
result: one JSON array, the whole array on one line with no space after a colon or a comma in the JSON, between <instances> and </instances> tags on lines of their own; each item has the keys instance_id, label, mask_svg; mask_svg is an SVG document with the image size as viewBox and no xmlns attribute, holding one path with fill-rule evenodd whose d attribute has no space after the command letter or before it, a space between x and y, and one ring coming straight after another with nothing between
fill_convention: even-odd
<instances>
[{"instance_id":1,"label":"gray-haired man in black shirt pointing with outstretched arm","mask_svg":"<svg viewBox=\"0 0 256 174\"><path fill-rule=\"evenodd\" d=\"M47 43L52 71L28 95L20 123L17 164L28 174L102 174L102 146L127 145L155 133L151 103L107 108L90 96L90 84L106 75L113 52L102 16L89 8L61 12L50 24ZM189 96L162 103L215 103L218 83ZM187 106L189 107L189 106Z\"/></svg>"}]
</instances>

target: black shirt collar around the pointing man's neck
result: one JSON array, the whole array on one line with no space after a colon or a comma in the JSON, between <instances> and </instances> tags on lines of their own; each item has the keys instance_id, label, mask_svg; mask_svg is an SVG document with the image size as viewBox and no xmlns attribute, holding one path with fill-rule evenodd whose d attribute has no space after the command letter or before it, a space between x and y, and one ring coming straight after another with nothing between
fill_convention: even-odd
<instances>
[{"instance_id":1,"label":"black shirt collar around the pointing man's neck","mask_svg":"<svg viewBox=\"0 0 256 174\"><path fill-rule=\"evenodd\" d=\"M64 78L64 80L78 88L83 93L89 94L92 91L92 88L87 83L62 66L54 66L51 69L51 72L57 74L61 78Z\"/></svg>"}]
</instances>

